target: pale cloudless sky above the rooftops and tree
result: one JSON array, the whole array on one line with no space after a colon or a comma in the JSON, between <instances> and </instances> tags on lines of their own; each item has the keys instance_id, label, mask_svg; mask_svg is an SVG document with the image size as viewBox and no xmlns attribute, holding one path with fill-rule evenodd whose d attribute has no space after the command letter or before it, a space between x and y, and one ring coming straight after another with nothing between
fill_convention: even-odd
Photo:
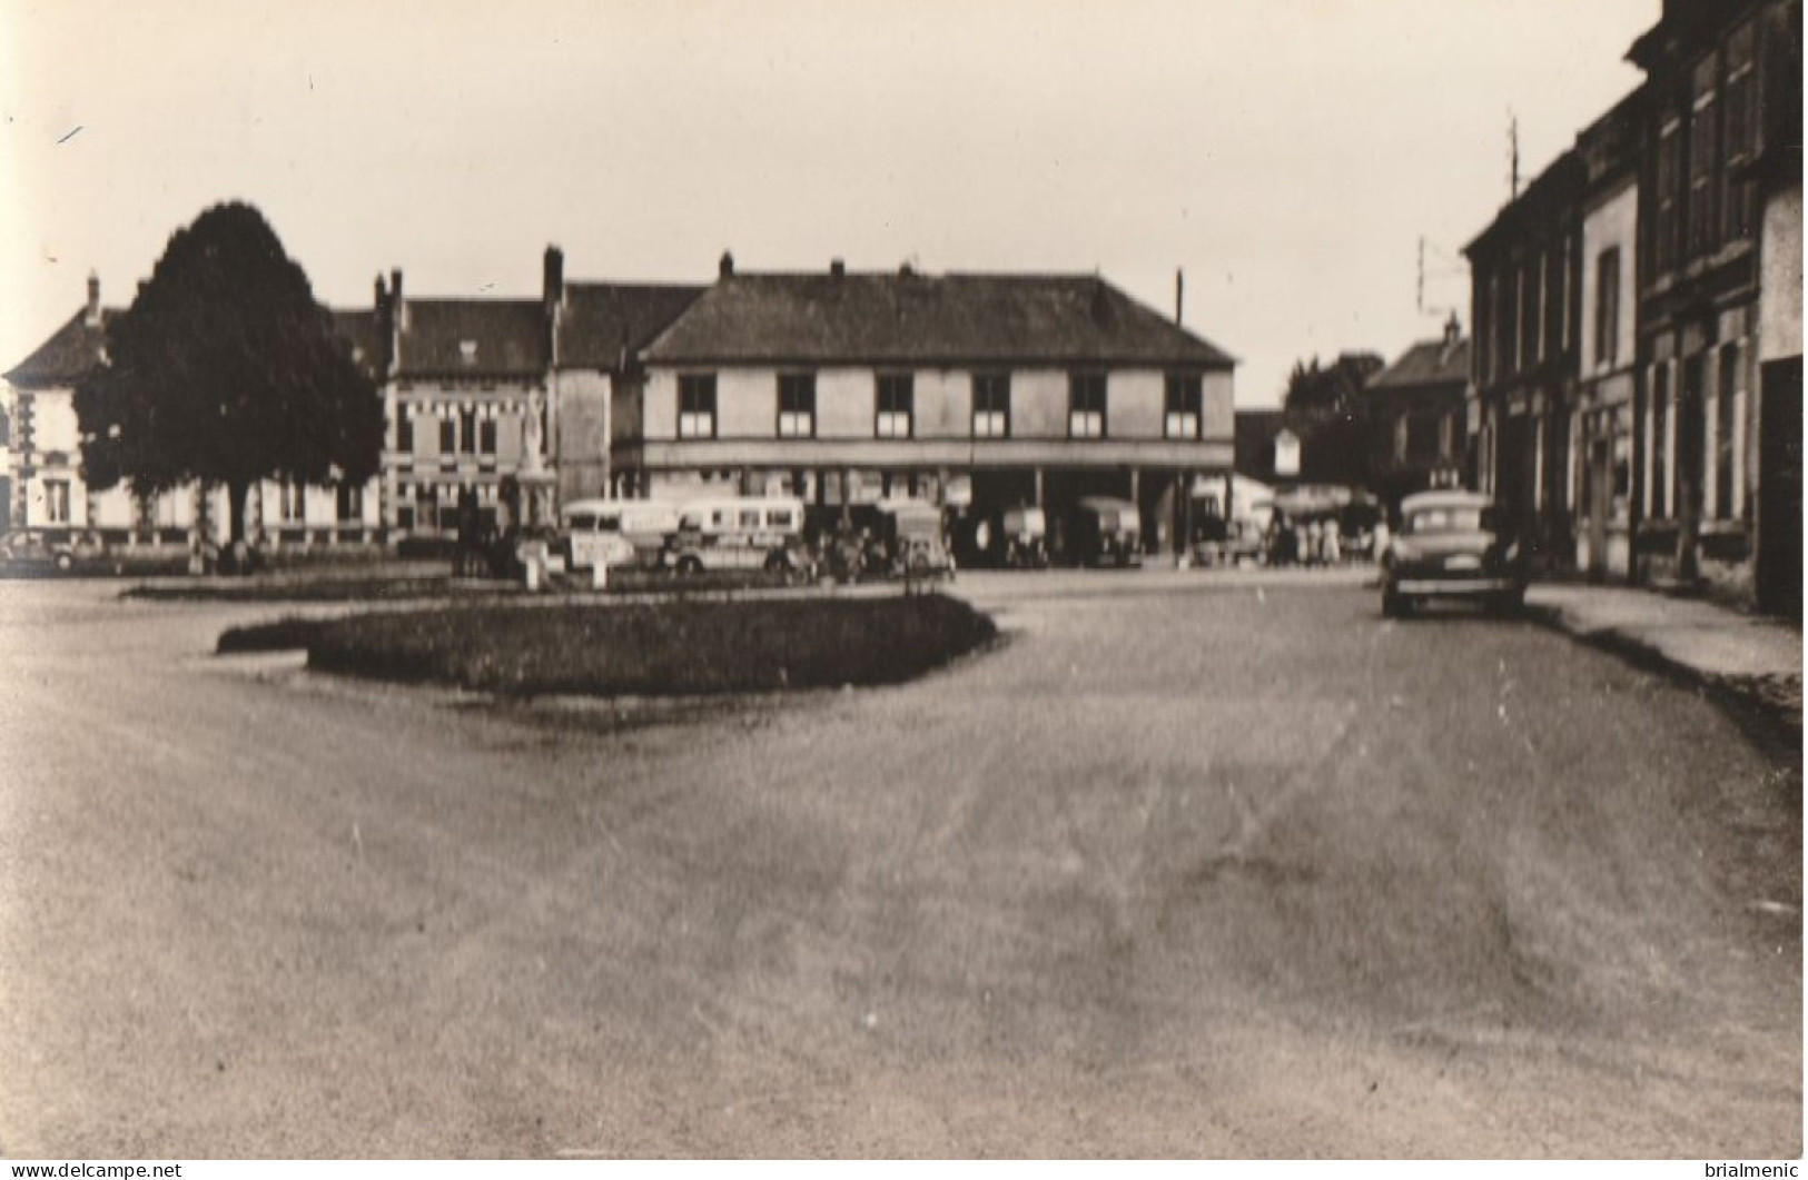
<instances>
[{"instance_id":1,"label":"pale cloudless sky above the rooftops and tree","mask_svg":"<svg viewBox=\"0 0 1808 1180\"><path fill-rule=\"evenodd\" d=\"M259 206L315 295L1097 273L1238 358L1392 360L1638 83L1660 0L0 0L0 369ZM1425 240L1425 298L1419 242Z\"/></svg>"}]
</instances>

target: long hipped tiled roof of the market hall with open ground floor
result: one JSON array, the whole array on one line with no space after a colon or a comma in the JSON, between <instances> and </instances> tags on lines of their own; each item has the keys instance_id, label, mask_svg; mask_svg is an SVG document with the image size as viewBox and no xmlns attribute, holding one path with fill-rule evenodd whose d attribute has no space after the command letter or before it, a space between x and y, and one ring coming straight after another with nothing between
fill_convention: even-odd
<instances>
[{"instance_id":1,"label":"long hipped tiled roof of the market hall with open ground floor","mask_svg":"<svg viewBox=\"0 0 1808 1180\"><path fill-rule=\"evenodd\" d=\"M642 356L654 363L1235 363L1090 275L729 275Z\"/></svg>"}]
</instances>

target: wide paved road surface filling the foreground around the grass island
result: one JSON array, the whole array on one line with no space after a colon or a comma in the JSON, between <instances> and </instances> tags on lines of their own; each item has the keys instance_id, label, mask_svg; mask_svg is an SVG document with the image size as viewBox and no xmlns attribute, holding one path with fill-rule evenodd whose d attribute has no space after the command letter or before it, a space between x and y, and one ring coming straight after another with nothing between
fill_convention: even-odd
<instances>
[{"instance_id":1,"label":"wide paved road surface filling the foreground around the grass island","mask_svg":"<svg viewBox=\"0 0 1808 1180\"><path fill-rule=\"evenodd\" d=\"M0 584L0 1149L1801 1153L1797 755L1334 580L960 585L917 685L497 716Z\"/></svg>"}]
</instances>

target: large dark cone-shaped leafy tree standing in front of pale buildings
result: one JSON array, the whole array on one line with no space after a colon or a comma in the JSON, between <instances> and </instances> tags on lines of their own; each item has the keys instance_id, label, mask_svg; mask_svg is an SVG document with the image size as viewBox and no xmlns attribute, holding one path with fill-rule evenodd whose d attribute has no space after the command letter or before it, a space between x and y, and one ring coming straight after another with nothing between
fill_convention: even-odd
<instances>
[{"instance_id":1,"label":"large dark cone-shaped leafy tree standing in front of pale buildings","mask_svg":"<svg viewBox=\"0 0 1808 1180\"><path fill-rule=\"evenodd\" d=\"M239 202L170 237L108 323L76 419L89 486L224 484L233 542L253 482L363 482L383 445L383 407L351 343L264 215Z\"/></svg>"}]
</instances>

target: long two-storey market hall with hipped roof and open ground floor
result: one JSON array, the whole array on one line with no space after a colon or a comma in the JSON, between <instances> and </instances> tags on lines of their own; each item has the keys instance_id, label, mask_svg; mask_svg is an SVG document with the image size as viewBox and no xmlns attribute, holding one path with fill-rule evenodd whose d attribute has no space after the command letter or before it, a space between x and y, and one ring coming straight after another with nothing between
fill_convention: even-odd
<instances>
[{"instance_id":1,"label":"long two-storey market hall with hipped roof and open ground floor","mask_svg":"<svg viewBox=\"0 0 1808 1180\"><path fill-rule=\"evenodd\" d=\"M720 276L640 352L613 492L1139 504L1172 551L1231 472L1235 360L1092 275Z\"/></svg>"}]
</instances>

